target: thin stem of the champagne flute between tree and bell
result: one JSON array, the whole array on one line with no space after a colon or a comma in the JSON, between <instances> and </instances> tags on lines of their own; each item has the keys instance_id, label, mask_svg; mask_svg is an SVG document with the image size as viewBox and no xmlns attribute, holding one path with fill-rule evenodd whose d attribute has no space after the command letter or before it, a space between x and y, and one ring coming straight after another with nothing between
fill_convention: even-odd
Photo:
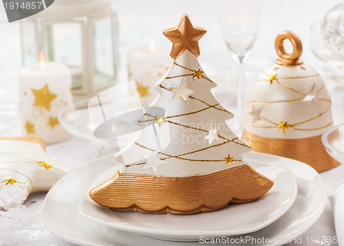
<instances>
[{"instance_id":1,"label":"thin stem of the champagne flute between tree and bell","mask_svg":"<svg viewBox=\"0 0 344 246\"><path fill-rule=\"evenodd\" d=\"M239 131L242 130L242 122L244 118L244 109L246 104L246 79L245 64L242 61L237 63L237 122Z\"/></svg>"}]
</instances>

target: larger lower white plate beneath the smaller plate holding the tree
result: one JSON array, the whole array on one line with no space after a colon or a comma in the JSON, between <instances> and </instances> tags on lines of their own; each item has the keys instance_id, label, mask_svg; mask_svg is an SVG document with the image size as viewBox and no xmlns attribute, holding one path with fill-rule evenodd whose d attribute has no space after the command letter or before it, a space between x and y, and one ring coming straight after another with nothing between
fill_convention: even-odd
<instances>
[{"instance_id":1,"label":"larger lower white plate beneath the smaller plate holding the tree","mask_svg":"<svg viewBox=\"0 0 344 246\"><path fill-rule=\"evenodd\" d=\"M284 245L301 236L319 219L326 201L325 188L318 172L307 164L293 159L248 153L246 161L264 163L288 168L294 173L299 186L297 198L286 214L274 223L257 232L232 236L232 245L240 245L241 238L256 239L256 243L245 241L246 245ZM89 183L113 164L106 164L112 159L99 159L97 164L90 164L80 170L65 175L48 192L43 203L43 223L50 232L66 241L78 245L117 245L117 246L196 246L197 242L171 242L121 232L120 230L89 221L78 212L78 203ZM108 162L109 163L109 162ZM230 220L230 218L228 218ZM153 223L153 221L152 221ZM259 238L265 238L259 242ZM268 238L268 239L267 239ZM217 244L212 244L217 245Z\"/></svg>"}]
</instances>

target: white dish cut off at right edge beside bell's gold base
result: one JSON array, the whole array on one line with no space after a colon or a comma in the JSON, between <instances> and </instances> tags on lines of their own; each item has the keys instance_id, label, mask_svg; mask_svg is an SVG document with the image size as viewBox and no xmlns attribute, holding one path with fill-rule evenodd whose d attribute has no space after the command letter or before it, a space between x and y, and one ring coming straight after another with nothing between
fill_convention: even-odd
<instances>
[{"instance_id":1,"label":"white dish cut off at right edge beside bell's gold base","mask_svg":"<svg viewBox=\"0 0 344 246\"><path fill-rule=\"evenodd\" d=\"M337 161L344 163L344 124L323 133L321 140L327 153Z\"/></svg>"}]
</instances>

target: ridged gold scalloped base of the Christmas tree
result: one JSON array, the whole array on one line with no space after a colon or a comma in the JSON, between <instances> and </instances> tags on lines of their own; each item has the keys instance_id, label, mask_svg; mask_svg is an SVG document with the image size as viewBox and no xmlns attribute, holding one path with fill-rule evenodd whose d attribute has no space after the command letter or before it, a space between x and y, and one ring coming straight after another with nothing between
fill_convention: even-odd
<instances>
[{"instance_id":1,"label":"ridged gold scalloped base of the Christmas tree","mask_svg":"<svg viewBox=\"0 0 344 246\"><path fill-rule=\"evenodd\" d=\"M89 196L116 211L155 214L196 214L230 203L255 201L273 186L247 164L208 175L166 177L116 173Z\"/></svg>"}]
</instances>

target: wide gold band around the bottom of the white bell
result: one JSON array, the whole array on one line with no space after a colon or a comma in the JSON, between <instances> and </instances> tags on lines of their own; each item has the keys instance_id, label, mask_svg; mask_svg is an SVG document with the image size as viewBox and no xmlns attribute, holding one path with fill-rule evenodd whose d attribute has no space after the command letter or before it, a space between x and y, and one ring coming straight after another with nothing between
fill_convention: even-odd
<instances>
[{"instance_id":1,"label":"wide gold band around the bottom of the white bell","mask_svg":"<svg viewBox=\"0 0 344 246\"><path fill-rule=\"evenodd\" d=\"M318 172L329 170L340 164L327 154L321 142L321 135L298 139L279 139L259 137L244 130L241 139L250 144L255 152L296 159L312 166Z\"/></svg>"}]
</instances>

